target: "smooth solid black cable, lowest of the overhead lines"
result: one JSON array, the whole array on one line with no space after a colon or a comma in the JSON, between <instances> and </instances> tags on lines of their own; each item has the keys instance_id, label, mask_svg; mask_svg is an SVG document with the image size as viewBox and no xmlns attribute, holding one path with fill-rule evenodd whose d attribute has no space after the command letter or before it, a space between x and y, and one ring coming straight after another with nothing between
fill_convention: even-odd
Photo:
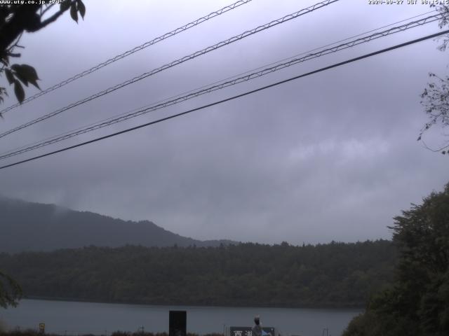
<instances>
[{"instance_id":1,"label":"smooth solid black cable, lowest of the overhead lines","mask_svg":"<svg viewBox=\"0 0 449 336\"><path fill-rule=\"evenodd\" d=\"M291 77L291 78L288 78L288 79L285 79L285 80L281 80L279 82L272 83L272 84L269 84L269 85L265 85L265 86L262 86L262 87L259 87L259 88L255 89L255 90L250 90L250 91L247 91L247 92L244 92L244 93L241 93L241 94L236 94L235 96L232 96L232 97L229 97L229 98L226 98L226 99L222 99L220 101L213 102L213 103L210 103L210 104L206 104L206 105L203 105L203 106L199 106L199 107L196 107L195 109L190 109L188 111L184 111L184 112L181 112L181 113L173 114L172 116L168 116L168 117L165 117L165 118L154 120L154 121L151 121L149 123L145 123L145 124L138 125L138 126L135 126L135 127L130 127L128 129L122 130L120 132L115 132L115 133L112 133L112 134L105 135L104 137L99 137L99 138L95 138L95 139L92 139L92 140L89 140L89 141L82 142L81 144L76 144L76 145L73 145L73 146L61 148L61 149L58 149L58 151L53 151L53 152L50 152L50 153L37 155L37 156L35 156L33 158L29 158L29 159L26 159L26 160L14 162L14 163L11 163L9 165L4 165L4 166L1 166L0 169L5 169L5 168L8 168L8 167L13 167L15 165L20 165L22 163L29 162L29 161L32 161L32 160L45 158L46 156L54 155L56 153L61 153L61 152L64 152L64 151L68 151L69 149L85 146L87 144L93 144L94 142L97 142L97 141L101 141L101 140L108 139L108 138L111 138L111 137L116 137L119 134L128 133L128 132L131 132L131 131L134 131L134 130L138 130L138 129L142 128L142 127L147 127L147 126L150 126L150 125L161 123L161 122L163 122L165 120L170 120L170 119L173 119L173 118L176 118L176 117L184 116L185 114L192 113L194 111L199 111L199 110L202 110L202 109L206 109L206 108L208 108L210 106L215 106L215 105L218 105L218 104L229 102L229 101L237 99L237 98L245 97L248 94L253 94L255 92L266 90L269 87L274 87L274 86L277 86L277 85L288 83L288 82L290 82L292 80L296 80L296 79L299 79L299 78L302 78L302 77L313 75L314 73L319 73L319 72L322 72L322 71L330 70L330 69L336 68L337 66L342 66L344 64L349 64L349 63L352 63L352 62L356 62L356 61L358 61L360 59L373 57L375 55L382 54L383 52L388 52L388 51L395 50L395 49L398 49L398 48L403 48L406 45L412 45L414 43L425 41L425 40L428 40L429 38L434 38L434 37L441 36L441 35L448 34L448 33L449 33L449 29L445 30L445 31L440 31L440 32L435 33L435 34L427 35L427 36L424 36L424 37L421 37L421 38L416 38L415 40L412 40L412 41L408 41L408 42L405 42L405 43L397 44L397 45L394 45L394 46L389 47L389 48L384 48L384 49L381 49L381 50L377 50L375 52L370 52L370 53L362 55L362 56L358 56L358 57L354 57L354 58L351 58L351 59L347 59L346 61L335 63L335 64L332 64L332 65L329 65L329 66L325 66L325 67L323 67L321 69L317 69L317 70L310 71L310 72L307 72L307 73L302 73L301 75L298 75L298 76L295 76L295 77Z\"/></svg>"}]
</instances>

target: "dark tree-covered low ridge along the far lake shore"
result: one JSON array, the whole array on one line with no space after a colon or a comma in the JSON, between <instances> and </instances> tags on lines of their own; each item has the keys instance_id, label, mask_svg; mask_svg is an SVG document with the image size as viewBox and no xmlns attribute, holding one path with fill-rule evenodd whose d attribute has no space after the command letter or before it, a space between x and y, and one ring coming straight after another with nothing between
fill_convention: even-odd
<instances>
[{"instance_id":1,"label":"dark tree-covered low ridge along the far lake shore","mask_svg":"<svg viewBox=\"0 0 449 336\"><path fill-rule=\"evenodd\" d=\"M0 254L25 296L147 304L349 307L391 281L390 241Z\"/></svg>"}]
</instances>

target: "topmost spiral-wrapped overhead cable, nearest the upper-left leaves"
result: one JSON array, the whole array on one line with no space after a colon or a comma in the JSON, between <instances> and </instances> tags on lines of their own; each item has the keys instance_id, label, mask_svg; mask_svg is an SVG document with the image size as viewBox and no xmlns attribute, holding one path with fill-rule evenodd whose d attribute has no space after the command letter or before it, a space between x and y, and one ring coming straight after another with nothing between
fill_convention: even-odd
<instances>
[{"instance_id":1,"label":"topmost spiral-wrapped overhead cable, nearest the upper-left leaves","mask_svg":"<svg viewBox=\"0 0 449 336\"><path fill-rule=\"evenodd\" d=\"M116 56L114 56L114 57L112 57L110 59L107 59L105 62L102 62L100 64L97 64L97 65L91 67L91 69L88 69L86 71L77 73L76 75L74 75L74 76L72 76L72 77L70 77L70 78L68 78L66 80L63 80L62 82L60 82L58 84L55 84L55 85L53 85L51 87L48 87L45 90L42 90L41 92L38 92L38 93L34 94L34 96L25 99L22 103L16 103L16 104L13 104L13 105L7 107L6 109L1 110L0 111L0 115L3 114L3 113L6 113L8 111L11 111L12 109L15 109L16 107L18 107L20 105L26 104L27 102L31 102L32 100L43 96L43 94L47 94L48 92L51 92L53 90L59 89L60 87L63 87L64 85L72 83L74 80L77 80L77 79L79 79L81 77L87 76L89 73L93 73L93 72L101 69L104 66L107 66L107 65L109 65L111 63L114 63L114 62L118 61L119 59L122 59L122 58L124 58L126 56L132 55L133 53L138 52L138 51L140 51L142 49L148 48L150 45L154 45L154 44L156 44L158 42L161 42L161 41L165 40L166 38L169 38L171 36L175 36L176 34L179 34L182 31L186 31L187 29L195 27L195 26L197 26L197 25L199 25L199 24L201 24L203 22L206 22L206 21L208 21L208 20L210 20L212 18L215 18L215 17L217 17L219 15L222 15L223 13L226 13L229 10L233 10L234 8L237 8L237 7L241 6L241 5L244 5L244 4L246 4L246 3L250 2L250 1L252 1L252 0L239 0L239 1L236 1L236 2L232 3L232 5L223 7L221 9L219 9L219 10L215 10L212 13L209 13L208 15L203 16L202 18L199 18L199 19L196 19L196 20L194 20L192 22L187 23L187 25L184 25L182 27L176 28L176 29L174 29L172 31L169 31L166 34L163 34L161 36L153 38L151 41L147 41L147 42L145 42L145 43L143 43L141 45L138 45L137 47L135 47L133 49L126 50L125 52L121 53L120 55L116 55Z\"/></svg>"}]
</instances>

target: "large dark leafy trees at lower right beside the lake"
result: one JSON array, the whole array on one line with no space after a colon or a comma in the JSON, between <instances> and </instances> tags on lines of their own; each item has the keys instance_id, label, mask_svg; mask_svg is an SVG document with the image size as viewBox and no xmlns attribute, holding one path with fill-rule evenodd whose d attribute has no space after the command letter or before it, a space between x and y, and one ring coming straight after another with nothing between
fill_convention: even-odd
<instances>
[{"instance_id":1,"label":"large dark leafy trees at lower right beside the lake","mask_svg":"<svg viewBox=\"0 0 449 336\"><path fill-rule=\"evenodd\" d=\"M449 335L449 183L395 218L395 281L371 297L345 336Z\"/></svg>"}]
</instances>

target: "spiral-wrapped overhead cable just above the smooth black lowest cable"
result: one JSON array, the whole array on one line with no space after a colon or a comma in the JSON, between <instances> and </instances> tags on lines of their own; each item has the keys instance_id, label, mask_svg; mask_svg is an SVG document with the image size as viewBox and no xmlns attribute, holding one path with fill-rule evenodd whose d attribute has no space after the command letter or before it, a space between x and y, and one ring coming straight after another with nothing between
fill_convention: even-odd
<instances>
[{"instance_id":1,"label":"spiral-wrapped overhead cable just above the smooth black lowest cable","mask_svg":"<svg viewBox=\"0 0 449 336\"><path fill-rule=\"evenodd\" d=\"M178 104L180 102L185 102L188 99L192 99L194 97L199 97L202 94L214 92L216 90L221 90L221 89L223 89L225 87L229 87L229 86L232 86L232 85L243 83L243 82L246 82L248 80L252 80L254 78L258 78L258 77L267 75L268 73L272 73L274 71L279 71L281 69L284 69L284 68L286 68L288 66L292 66L292 65L298 64L300 62L306 62L306 61L308 61L310 59L321 57L323 55L329 55L330 53L337 52L337 51L340 51L340 50L344 50L344 49L347 49L347 48L352 48L355 45L360 45L361 43L367 43L367 42L373 41L373 40L375 40L377 38L382 38L384 36L389 36L391 34L396 34L396 33L401 32L401 31L406 31L408 29L412 29L412 28L415 28L415 27L420 27L422 25L427 25L427 24L429 24L431 22L435 22L436 20L438 20L439 16L440 16L439 14L438 15L431 15L431 16L429 16L427 18L422 18L420 20L415 20L413 22L408 22L408 23L406 23L404 25L401 25L401 26L398 26L398 27L392 27L390 29L387 29L387 30L384 30L384 31L379 31L379 32L377 32L375 34L371 34L369 36L363 36L363 37L357 38L357 39L355 39L353 41L349 41L347 43L342 43L340 45L336 45L333 48L327 48L327 49L321 50L319 52L309 53L308 55L306 55L304 57L293 58L293 59L290 59L288 62L283 62L285 60L285 59L283 59L282 61L280 61L280 62L283 62L283 63L279 63L278 62L278 64L276 64L275 66L262 69L261 71L256 71L256 72L253 72L253 73L249 73L249 74L246 74L245 76L241 76L239 78L234 78L232 80L227 80L224 83L220 83L220 84L217 84L217 85L210 85L210 86L205 87L205 88L203 88L201 90L190 91L188 94L185 94L184 96L177 96L177 97L175 97L175 99L166 100L165 102L159 102L159 103L154 104L153 106L145 106L144 108L135 109L135 110L133 110L131 112L124 113L124 114L122 114L122 115L120 115L120 116L118 116L116 118L108 118L105 121L102 121L102 122L99 122L99 123L94 123L94 124L88 125L86 127L80 127L80 128L78 128L78 129L76 129L74 131L66 132L65 134L61 134L59 136L51 137L49 139L45 139L43 141L37 142L37 143L32 144L32 145L22 146L20 148L16 148L15 150L11 150L11 151L8 151L6 153L0 154L0 160L4 160L6 158L11 158L11 157L13 157L15 155L20 155L22 153L27 153L27 152L33 151L34 149L37 149L37 148L41 148L41 147L44 147L44 146L49 146L51 144L55 144L55 143L58 143L60 141L66 140L66 139L70 139L72 137L76 137L76 136L78 136L80 134L85 134L85 133L88 133L88 132L99 130L100 128L103 128L103 127L114 125L116 123L121 123L121 122L123 122L125 120L128 120L130 118L135 118L135 117L141 116L142 114L145 114L145 113L149 113L149 112L152 112L152 111L163 109L163 108L165 108L167 106L172 106L172 105ZM300 54L300 55L304 55L304 53Z\"/></svg>"}]
</instances>

